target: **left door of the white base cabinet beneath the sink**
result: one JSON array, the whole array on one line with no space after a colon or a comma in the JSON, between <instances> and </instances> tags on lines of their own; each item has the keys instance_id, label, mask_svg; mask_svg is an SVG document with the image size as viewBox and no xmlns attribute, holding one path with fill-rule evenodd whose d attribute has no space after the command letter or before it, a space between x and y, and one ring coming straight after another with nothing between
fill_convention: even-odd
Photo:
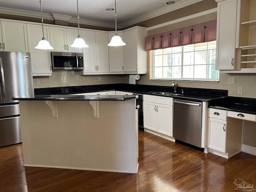
<instances>
[{"instance_id":1,"label":"left door of the white base cabinet beneath the sink","mask_svg":"<svg viewBox=\"0 0 256 192\"><path fill-rule=\"evenodd\" d=\"M157 112L156 104L143 102L144 128L157 131Z\"/></svg>"}]
</instances>

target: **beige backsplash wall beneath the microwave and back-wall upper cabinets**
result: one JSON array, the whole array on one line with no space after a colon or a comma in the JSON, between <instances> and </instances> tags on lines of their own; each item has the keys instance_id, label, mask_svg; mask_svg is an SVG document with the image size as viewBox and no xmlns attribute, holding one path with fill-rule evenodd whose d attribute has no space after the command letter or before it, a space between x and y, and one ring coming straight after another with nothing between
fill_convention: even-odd
<instances>
[{"instance_id":1,"label":"beige backsplash wall beneath the microwave and back-wall upper cabinets","mask_svg":"<svg viewBox=\"0 0 256 192\"><path fill-rule=\"evenodd\" d=\"M99 81L100 77L100 81ZM36 84L40 80L40 84ZM52 76L33 77L34 88L63 87L63 86L80 86L80 85L97 85L97 84L114 84L121 83L120 76L110 75L80 75L75 71L53 71Z\"/></svg>"}]
</instances>

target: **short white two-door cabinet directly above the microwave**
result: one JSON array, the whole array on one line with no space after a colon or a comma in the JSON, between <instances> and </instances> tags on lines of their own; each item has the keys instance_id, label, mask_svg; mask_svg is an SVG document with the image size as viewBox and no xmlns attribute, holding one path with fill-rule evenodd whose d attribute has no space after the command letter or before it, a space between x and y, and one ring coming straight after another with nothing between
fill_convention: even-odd
<instances>
[{"instance_id":1,"label":"short white two-door cabinet directly above the microwave","mask_svg":"<svg viewBox=\"0 0 256 192\"><path fill-rule=\"evenodd\" d=\"M54 48L52 51L77 53L82 52L82 49L70 46L73 44L75 38L77 38L78 30L63 27L49 27L49 30L50 44Z\"/></svg>"}]
</instances>

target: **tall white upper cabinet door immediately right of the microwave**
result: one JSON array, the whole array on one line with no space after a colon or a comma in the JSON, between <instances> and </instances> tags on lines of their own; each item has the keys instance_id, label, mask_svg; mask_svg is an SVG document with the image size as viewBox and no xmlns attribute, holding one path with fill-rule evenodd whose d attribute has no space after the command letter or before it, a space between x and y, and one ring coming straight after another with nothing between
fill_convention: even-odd
<instances>
[{"instance_id":1,"label":"tall white upper cabinet door immediately right of the microwave","mask_svg":"<svg viewBox=\"0 0 256 192\"><path fill-rule=\"evenodd\" d=\"M96 47L95 47L95 32L82 30L81 37L89 47L82 48L84 54L84 73L96 71Z\"/></svg>"}]
</instances>

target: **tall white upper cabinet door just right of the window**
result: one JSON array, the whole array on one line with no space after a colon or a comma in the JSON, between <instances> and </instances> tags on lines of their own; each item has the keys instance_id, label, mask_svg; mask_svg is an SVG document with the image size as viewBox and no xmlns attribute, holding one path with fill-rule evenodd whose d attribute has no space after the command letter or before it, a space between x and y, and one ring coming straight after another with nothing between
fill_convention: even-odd
<instances>
[{"instance_id":1,"label":"tall white upper cabinet door just right of the window","mask_svg":"<svg viewBox=\"0 0 256 192\"><path fill-rule=\"evenodd\" d=\"M218 3L215 65L217 70L235 69L236 12L237 0Z\"/></svg>"}]
</instances>

